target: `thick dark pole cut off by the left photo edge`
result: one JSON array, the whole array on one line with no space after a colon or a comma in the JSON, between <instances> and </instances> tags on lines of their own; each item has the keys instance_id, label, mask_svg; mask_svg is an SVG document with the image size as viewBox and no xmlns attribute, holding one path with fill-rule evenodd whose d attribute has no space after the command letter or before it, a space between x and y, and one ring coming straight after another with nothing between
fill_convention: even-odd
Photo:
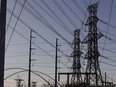
<instances>
[{"instance_id":1,"label":"thick dark pole cut off by the left photo edge","mask_svg":"<svg viewBox=\"0 0 116 87\"><path fill-rule=\"evenodd\" d=\"M4 87L6 6L7 0L0 0L0 87Z\"/></svg>"}]
</instances>

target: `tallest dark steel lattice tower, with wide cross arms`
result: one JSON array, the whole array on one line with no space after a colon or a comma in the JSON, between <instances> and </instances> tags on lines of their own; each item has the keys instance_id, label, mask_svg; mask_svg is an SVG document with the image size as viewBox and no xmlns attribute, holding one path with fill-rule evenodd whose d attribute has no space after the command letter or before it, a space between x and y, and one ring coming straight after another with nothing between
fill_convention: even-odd
<instances>
[{"instance_id":1,"label":"tallest dark steel lattice tower, with wide cross arms","mask_svg":"<svg viewBox=\"0 0 116 87\"><path fill-rule=\"evenodd\" d=\"M103 81L98 59L100 56L98 51L98 39L101 38L102 35L97 31L97 22L99 20L97 17L97 8L98 3L88 6L89 17L86 25L89 31L83 43L88 44L86 73L89 74L85 76L85 82L89 85L95 84L98 87L99 83Z\"/></svg>"}]
</instances>

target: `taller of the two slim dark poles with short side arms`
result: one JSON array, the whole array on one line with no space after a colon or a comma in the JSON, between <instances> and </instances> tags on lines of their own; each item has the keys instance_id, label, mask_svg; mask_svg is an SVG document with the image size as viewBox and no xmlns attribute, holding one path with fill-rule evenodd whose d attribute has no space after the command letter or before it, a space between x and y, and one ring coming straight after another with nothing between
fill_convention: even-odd
<instances>
[{"instance_id":1,"label":"taller of the two slim dark poles with short side arms","mask_svg":"<svg viewBox=\"0 0 116 87\"><path fill-rule=\"evenodd\" d=\"M30 30L28 87L31 87L31 49L32 49L31 45L32 45L32 30Z\"/></svg>"}]
</instances>

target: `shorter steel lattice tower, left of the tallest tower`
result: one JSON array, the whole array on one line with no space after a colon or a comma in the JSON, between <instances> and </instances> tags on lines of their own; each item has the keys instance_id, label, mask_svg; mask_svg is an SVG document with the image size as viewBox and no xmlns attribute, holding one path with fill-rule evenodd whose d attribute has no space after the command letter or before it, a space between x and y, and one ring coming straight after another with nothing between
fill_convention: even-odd
<instances>
[{"instance_id":1,"label":"shorter steel lattice tower, left of the tallest tower","mask_svg":"<svg viewBox=\"0 0 116 87\"><path fill-rule=\"evenodd\" d=\"M73 57L73 74L71 78L71 85L74 87L74 85L79 85L81 82L81 64L80 64L80 29L77 29L74 31L74 40L73 40L73 52L71 54L71 57Z\"/></svg>"}]
</instances>

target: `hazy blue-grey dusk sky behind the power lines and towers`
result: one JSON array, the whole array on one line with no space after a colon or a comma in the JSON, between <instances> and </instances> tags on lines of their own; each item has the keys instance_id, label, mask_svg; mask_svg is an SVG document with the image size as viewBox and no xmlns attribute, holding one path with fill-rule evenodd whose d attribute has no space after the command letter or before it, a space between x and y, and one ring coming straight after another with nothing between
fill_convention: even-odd
<instances>
[{"instance_id":1,"label":"hazy blue-grey dusk sky behind the power lines and towers","mask_svg":"<svg viewBox=\"0 0 116 87\"><path fill-rule=\"evenodd\" d=\"M32 70L43 72L54 78L55 40L58 38L58 44L60 45L58 47L60 49L60 52L58 52L58 67L61 67L58 72L72 71L67 66L71 67L72 65L72 58L69 58L69 56L73 50L69 43L73 41L73 31L81 29L80 37L83 41L88 33L88 27L85 27L85 25L82 27L82 22L86 23L88 17L88 13L86 14L87 6L89 3L99 1L97 15L100 20L105 22L98 21L98 29L105 35L98 42L100 54L104 56L104 58L99 57L99 60L102 61L100 67L103 75L107 72L108 77L116 81L116 27L114 26L116 25L116 0L27 0L23 9L24 0L17 0L16 5L16 0L7 1L7 25L9 26L6 26L5 69L28 69L30 29L33 29L36 33L32 33L35 37L32 41L32 48L35 49L32 50L32 59L36 61L32 61ZM55 2L57 3L55 4ZM12 11L13 15L11 16ZM106 24L108 21L111 26ZM83 57L87 52L86 48L87 45L81 45L81 50L84 53ZM81 63L82 67L85 68L86 59L81 58ZM17 71L21 70L5 71L5 77ZM27 74L27 72L18 74L20 78L25 80L26 85ZM14 79L18 75L16 74L5 80L6 87L16 87ZM48 77L42 76L53 82ZM111 81L109 78L108 80ZM38 85L42 85L44 82L34 74L32 74L32 81L37 81ZM66 80L62 79L62 82L64 83Z\"/></svg>"}]
</instances>

